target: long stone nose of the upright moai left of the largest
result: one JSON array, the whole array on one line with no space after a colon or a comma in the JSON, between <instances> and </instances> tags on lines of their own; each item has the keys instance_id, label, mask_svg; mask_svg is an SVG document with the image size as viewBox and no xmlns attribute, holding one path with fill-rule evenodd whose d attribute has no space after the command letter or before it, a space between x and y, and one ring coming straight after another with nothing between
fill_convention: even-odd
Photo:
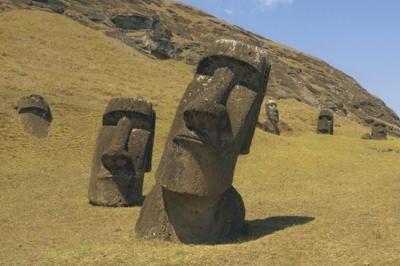
<instances>
[{"instance_id":1,"label":"long stone nose of the upright moai left of the largest","mask_svg":"<svg viewBox=\"0 0 400 266\"><path fill-rule=\"evenodd\" d=\"M118 121L112 144L101 157L101 162L106 169L116 170L131 163L131 158L127 151L131 130L132 121L130 119L123 117Z\"/></svg>"}]
</instances>

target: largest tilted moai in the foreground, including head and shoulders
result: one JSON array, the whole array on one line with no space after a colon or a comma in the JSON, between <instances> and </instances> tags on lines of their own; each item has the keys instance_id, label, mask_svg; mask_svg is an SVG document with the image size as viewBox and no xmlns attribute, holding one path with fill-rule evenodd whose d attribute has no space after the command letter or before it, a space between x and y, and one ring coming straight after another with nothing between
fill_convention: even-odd
<instances>
[{"instance_id":1,"label":"largest tilted moai in the foreground, including head and shoulders","mask_svg":"<svg viewBox=\"0 0 400 266\"><path fill-rule=\"evenodd\" d=\"M216 243L241 231L245 208L232 186L248 154L266 91L266 52L232 40L213 43L188 85L146 196L139 237Z\"/></svg>"}]
</instances>

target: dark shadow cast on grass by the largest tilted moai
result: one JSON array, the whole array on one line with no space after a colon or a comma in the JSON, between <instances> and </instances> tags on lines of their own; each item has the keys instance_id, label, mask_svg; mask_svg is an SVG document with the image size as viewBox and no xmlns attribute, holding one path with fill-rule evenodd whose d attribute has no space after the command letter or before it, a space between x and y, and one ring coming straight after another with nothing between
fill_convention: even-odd
<instances>
[{"instance_id":1,"label":"dark shadow cast on grass by the largest tilted moai","mask_svg":"<svg viewBox=\"0 0 400 266\"><path fill-rule=\"evenodd\" d=\"M228 243L249 242L295 225L315 220L308 216L273 216L265 219L245 221L242 232L232 236Z\"/></svg>"}]
</instances>

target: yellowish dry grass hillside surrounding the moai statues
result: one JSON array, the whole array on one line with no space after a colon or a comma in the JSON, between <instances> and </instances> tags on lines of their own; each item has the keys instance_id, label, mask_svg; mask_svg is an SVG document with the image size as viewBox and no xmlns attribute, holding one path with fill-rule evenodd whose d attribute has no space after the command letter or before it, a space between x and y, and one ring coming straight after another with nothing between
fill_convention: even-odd
<instances>
[{"instance_id":1,"label":"yellowish dry grass hillside surrounding the moai statues","mask_svg":"<svg viewBox=\"0 0 400 266\"><path fill-rule=\"evenodd\" d=\"M318 110L295 100L278 101L282 135L257 129L238 161L243 235L212 246L145 241L133 231L140 207L89 205L108 100L142 97L157 112L146 194L192 71L63 16L0 13L1 265L400 264L400 140L361 140L370 129L342 117L334 136L316 135ZM32 93L53 113L45 139L23 134L16 120L14 105Z\"/></svg>"}]
</instances>

